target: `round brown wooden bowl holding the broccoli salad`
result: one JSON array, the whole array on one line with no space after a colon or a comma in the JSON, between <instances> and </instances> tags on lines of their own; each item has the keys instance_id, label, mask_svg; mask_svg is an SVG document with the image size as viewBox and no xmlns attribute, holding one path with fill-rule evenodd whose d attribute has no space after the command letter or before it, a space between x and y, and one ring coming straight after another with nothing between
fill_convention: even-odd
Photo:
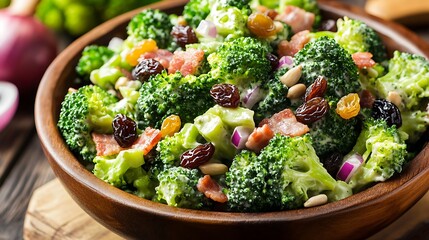
<instances>
[{"instance_id":1,"label":"round brown wooden bowl holding the broccoli salad","mask_svg":"<svg viewBox=\"0 0 429 240\"><path fill-rule=\"evenodd\" d=\"M185 0L151 5L180 13ZM349 16L378 31L389 52L394 49L429 57L429 45L407 29L335 2L320 3L327 18ZM84 35L65 49L47 70L35 103L37 132L56 176L73 199L93 218L126 238L136 239L362 239L387 226L429 188L429 146L398 176L344 200L323 206L269 213L187 210L151 202L96 178L65 145L56 123L60 103L76 77L75 65L88 44L105 45L124 37L135 10Z\"/></svg>"}]
</instances>

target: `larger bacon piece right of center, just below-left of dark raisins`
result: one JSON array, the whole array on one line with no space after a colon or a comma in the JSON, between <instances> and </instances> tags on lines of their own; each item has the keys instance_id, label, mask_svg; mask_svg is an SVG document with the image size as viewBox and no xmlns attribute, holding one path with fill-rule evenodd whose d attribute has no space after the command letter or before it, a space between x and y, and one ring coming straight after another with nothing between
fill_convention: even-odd
<instances>
[{"instance_id":1,"label":"larger bacon piece right of center, just below-left of dark raisins","mask_svg":"<svg viewBox=\"0 0 429 240\"><path fill-rule=\"evenodd\" d=\"M307 125L296 120L292 110L282 110L269 119L264 119L274 133L280 133L285 136L297 137L302 136L310 131Z\"/></svg>"}]
</instances>

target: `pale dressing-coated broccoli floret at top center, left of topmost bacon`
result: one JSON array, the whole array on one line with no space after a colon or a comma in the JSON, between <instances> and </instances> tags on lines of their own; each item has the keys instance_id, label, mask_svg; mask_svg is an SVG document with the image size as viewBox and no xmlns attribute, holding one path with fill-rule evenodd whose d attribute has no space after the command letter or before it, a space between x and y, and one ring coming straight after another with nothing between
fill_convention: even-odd
<instances>
[{"instance_id":1,"label":"pale dressing-coated broccoli floret at top center, left of topmost bacon","mask_svg":"<svg viewBox=\"0 0 429 240\"><path fill-rule=\"evenodd\" d=\"M225 41L249 35L247 18L251 14L248 1L218 0L210 8L206 20L212 22Z\"/></svg>"}]
</instances>

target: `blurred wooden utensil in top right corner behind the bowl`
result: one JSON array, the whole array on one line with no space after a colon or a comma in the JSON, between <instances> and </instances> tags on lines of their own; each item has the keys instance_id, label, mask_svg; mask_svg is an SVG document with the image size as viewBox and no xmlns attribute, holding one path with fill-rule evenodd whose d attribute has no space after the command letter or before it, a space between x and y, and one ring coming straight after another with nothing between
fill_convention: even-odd
<instances>
[{"instance_id":1,"label":"blurred wooden utensil in top right corner behind the bowl","mask_svg":"<svg viewBox=\"0 0 429 240\"><path fill-rule=\"evenodd\" d=\"M402 23L429 22L427 0L368 0L365 10L372 15Z\"/></svg>"}]
</instances>

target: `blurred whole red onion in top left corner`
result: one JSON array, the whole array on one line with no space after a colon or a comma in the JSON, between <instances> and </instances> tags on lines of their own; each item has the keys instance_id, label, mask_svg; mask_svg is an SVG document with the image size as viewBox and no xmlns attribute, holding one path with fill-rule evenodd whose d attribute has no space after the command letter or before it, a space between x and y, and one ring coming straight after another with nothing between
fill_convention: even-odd
<instances>
[{"instance_id":1,"label":"blurred whole red onion in top left corner","mask_svg":"<svg viewBox=\"0 0 429 240\"><path fill-rule=\"evenodd\" d=\"M14 83L20 93L35 93L57 55L55 36L32 16L38 1L12 1L0 11L0 80Z\"/></svg>"}]
</instances>

